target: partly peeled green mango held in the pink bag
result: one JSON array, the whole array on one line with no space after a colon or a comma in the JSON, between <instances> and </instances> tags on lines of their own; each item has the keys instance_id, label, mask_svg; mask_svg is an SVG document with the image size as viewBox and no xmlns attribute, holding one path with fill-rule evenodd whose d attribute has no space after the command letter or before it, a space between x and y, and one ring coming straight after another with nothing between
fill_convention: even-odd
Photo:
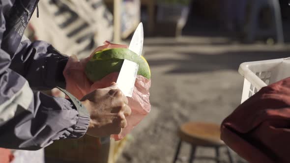
<instances>
[{"instance_id":1,"label":"partly peeled green mango held in the pink bag","mask_svg":"<svg viewBox=\"0 0 290 163\"><path fill-rule=\"evenodd\" d=\"M87 78L94 82L110 73L120 72L124 59L139 64L138 75L150 79L151 72L146 59L126 48L105 49L93 54L86 65Z\"/></svg>"}]
</instances>

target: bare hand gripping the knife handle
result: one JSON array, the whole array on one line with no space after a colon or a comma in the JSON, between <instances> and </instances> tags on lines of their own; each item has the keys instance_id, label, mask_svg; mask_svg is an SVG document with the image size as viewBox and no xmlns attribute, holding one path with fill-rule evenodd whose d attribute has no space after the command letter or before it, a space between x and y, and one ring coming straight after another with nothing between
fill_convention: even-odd
<instances>
[{"instance_id":1,"label":"bare hand gripping the knife handle","mask_svg":"<svg viewBox=\"0 0 290 163\"><path fill-rule=\"evenodd\" d=\"M90 112L88 135L107 137L119 134L127 126L125 117L131 114L131 109L127 97L115 82L110 87L87 94L81 102Z\"/></svg>"}]
</instances>

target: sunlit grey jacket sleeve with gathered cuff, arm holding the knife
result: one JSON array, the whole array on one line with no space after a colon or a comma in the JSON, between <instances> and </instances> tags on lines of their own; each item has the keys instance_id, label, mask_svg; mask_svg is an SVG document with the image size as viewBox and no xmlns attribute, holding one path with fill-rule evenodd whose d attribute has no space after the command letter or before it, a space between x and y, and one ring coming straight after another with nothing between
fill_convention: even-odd
<instances>
[{"instance_id":1,"label":"sunlit grey jacket sleeve with gathered cuff, arm holding the knife","mask_svg":"<svg viewBox=\"0 0 290 163\"><path fill-rule=\"evenodd\" d=\"M28 82L12 71L5 78L17 82L0 83L0 147L37 150L87 132L89 115L80 115L68 100L32 92Z\"/></svg>"}]
</instances>

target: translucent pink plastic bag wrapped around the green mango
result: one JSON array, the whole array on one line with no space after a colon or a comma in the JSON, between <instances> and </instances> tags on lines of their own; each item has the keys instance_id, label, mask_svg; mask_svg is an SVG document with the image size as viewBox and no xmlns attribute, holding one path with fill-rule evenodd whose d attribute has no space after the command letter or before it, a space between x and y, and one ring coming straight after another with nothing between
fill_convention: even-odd
<instances>
[{"instance_id":1,"label":"translucent pink plastic bag wrapped around the green mango","mask_svg":"<svg viewBox=\"0 0 290 163\"><path fill-rule=\"evenodd\" d=\"M92 54L103 49L111 48L127 48L127 46L111 44L106 41L104 46L98 47ZM66 90L78 99L82 99L86 94L95 89L110 86L110 84L116 82L118 78L118 72L115 72L94 83L89 81L85 74L85 67L90 57L91 55L79 61L77 56L70 56L63 71L66 81ZM130 116L126 117L127 127L124 128L119 135L112 135L112 138L119 140L126 136L126 134L130 133L130 131L149 113L151 108L149 103L150 85L150 80L140 75L137 76L132 98L128 98L128 105L130 106L132 113Z\"/></svg>"}]
</instances>

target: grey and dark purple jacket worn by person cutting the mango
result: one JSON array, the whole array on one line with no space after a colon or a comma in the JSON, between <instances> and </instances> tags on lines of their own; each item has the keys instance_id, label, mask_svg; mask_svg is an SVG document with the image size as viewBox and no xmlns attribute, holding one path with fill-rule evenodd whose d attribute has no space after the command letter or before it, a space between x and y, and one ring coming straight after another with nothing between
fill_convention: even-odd
<instances>
[{"instance_id":1,"label":"grey and dark purple jacket worn by person cutting the mango","mask_svg":"<svg viewBox=\"0 0 290 163\"><path fill-rule=\"evenodd\" d=\"M84 108L29 85L43 89L63 84L58 72L67 57L45 42L29 41L9 54L2 47L2 9L0 4L0 147L37 150L58 139L83 136L89 123L89 114L80 110Z\"/></svg>"}]
</instances>

